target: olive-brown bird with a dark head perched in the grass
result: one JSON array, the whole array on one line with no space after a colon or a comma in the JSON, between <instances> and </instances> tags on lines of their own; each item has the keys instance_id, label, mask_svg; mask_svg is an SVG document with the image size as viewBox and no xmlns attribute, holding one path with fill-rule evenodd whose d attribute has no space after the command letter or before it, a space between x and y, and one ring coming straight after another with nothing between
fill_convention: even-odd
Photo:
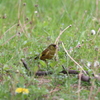
<instances>
[{"instance_id":1,"label":"olive-brown bird with a dark head perched in the grass","mask_svg":"<svg viewBox=\"0 0 100 100\"><path fill-rule=\"evenodd\" d=\"M40 58L43 61L52 59L56 53L56 49L56 44L50 44L39 56L35 57L34 59Z\"/></svg>"}]
</instances>

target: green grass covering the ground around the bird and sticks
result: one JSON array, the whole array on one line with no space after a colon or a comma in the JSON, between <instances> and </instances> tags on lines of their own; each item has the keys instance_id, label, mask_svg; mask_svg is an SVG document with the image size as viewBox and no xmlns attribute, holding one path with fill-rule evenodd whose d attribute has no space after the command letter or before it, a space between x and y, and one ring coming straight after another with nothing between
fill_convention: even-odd
<instances>
[{"instance_id":1,"label":"green grass covering the ground around the bird and sticks","mask_svg":"<svg viewBox=\"0 0 100 100\"><path fill-rule=\"evenodd\" d=\"M69 25L60 37L70 55L92 73L100 73L100 2L98 0L0 0L0 100L99 100L99 81L81 82L76 75L59 74L62 65L79 70L59 45L58 61L25 59L31 71L50 70L52 75L27 75L22 58L35 57L54 43L60 30ZM37 13L36 13L37 12ZM97 34L91 35L91 30ZM84 42L83 42L84 41ZM80 43L80 48L76 46ZM99 62L94 67L95 61ZM91 68L87 63L91 62ZM8 73L7 73L8 72ZM42 83L41 83L42 82ZM18 87L29 89L28 95L16 94ZM95 87L95 88L92 88ZM92 88L92 89L91 89ZM53 91L54 90L54 91ZM89 99L90 97L90 99Z\"/></svg>"}]
</instances>

